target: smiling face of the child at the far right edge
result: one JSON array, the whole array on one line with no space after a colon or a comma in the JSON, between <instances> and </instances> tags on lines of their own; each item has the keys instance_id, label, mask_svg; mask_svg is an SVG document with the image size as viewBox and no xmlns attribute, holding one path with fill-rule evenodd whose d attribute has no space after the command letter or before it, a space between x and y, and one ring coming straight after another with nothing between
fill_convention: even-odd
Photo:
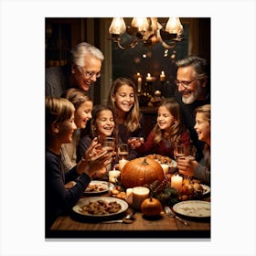
<instances>
[{"instance_id":1,"label":"smiling face of the child at the far right edge","mask_svg":"<svg viewBox=\"0 0 256 256\"><path fill-rule=\"evenodd\" d=\"M202 112L197 112L196 115L196 124L194 126L198 140L206 142L209 144L210 141L210 123L204 118Z\"/></svg>"}]
</instances>

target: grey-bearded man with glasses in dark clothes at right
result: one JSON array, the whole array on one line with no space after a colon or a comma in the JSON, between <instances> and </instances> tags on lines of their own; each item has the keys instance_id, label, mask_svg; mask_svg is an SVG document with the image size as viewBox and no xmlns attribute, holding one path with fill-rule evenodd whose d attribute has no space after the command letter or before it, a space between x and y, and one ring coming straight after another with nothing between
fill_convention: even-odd
<instances>
[{"instance_id":1,"label":"grey-bearded man with glasses in dark clothes at right","mask_svg":"<svg viewBox=\"0 0 256 256\"><path fill-rule=\"evenodd\" d=\"M191 56L176 61L176 101L181 105L184 122L190 132L192 143L197 148L197 161L203 157L204 144L198 141L194 129L195 110L210 103L208 64L206 59Z\"/></svg>"}]
</instances>

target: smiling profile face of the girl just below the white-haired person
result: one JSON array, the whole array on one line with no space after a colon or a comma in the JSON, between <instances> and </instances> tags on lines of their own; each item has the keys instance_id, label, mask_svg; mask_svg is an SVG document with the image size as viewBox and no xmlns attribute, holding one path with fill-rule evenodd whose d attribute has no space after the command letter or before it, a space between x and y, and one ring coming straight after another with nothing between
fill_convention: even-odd
<instances>
[{"instance_id":1,"label":"smiling profile face of the girl just below the white-haired person","mask_svg":"<svg viewBox=\"0 0 256 256\"><path fill-rule=\"evenodd\" d=\"M75 112L75 123L78 128L84 129L91 119L92 101L84 101Z\"/></svg>"}]
</instances>

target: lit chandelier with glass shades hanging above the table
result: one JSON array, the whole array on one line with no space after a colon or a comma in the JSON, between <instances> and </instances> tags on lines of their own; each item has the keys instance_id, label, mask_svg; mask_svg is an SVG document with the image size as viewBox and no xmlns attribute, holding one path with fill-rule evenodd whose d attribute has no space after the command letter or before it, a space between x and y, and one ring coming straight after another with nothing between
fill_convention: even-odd
<instances>
[{"instance_id":1,"label":"lit chandelier with glass shades hanging above the table","mask_svg":"<svg viewBox=\"0 0 256 256\"><path fill-rule=\"evenodd\" d=\"M123 43L123 34L132 37L128 45ZM161 43L164 48L175 48L176 42L183 38L183 26L178 17L169 17L166 24L160 24L157 17L133 17L131 26L125 26L123 17L113 17L109 27L111 40L116 42L119 48L134 48L139 42L144 46Z\"/></svg>"}]
</instances>

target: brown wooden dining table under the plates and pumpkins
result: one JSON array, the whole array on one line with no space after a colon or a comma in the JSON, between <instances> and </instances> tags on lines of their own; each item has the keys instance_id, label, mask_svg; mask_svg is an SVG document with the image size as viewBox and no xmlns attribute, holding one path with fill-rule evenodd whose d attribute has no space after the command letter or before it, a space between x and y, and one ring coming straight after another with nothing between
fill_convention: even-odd
<instances>
[{"instance_id":1,"label":"brown wooden dining table under the plates and pumpkins","mask_svg":"<svg viewBox=\"0 0 256 256\"><path fill-rule=\"evenodd\" d=\"M111 197L108 193L101 196ZM202 199L210 201L210 197ZM136 211L131 224L78 219L71 212L70 215L60 216L55 220L47 230L46 238L210 239L210 218L180 217L186 219L189 226L176 218L168 217L164 210L155 218L146 218L142 212Z\"/></svg>"}]
</instances>

